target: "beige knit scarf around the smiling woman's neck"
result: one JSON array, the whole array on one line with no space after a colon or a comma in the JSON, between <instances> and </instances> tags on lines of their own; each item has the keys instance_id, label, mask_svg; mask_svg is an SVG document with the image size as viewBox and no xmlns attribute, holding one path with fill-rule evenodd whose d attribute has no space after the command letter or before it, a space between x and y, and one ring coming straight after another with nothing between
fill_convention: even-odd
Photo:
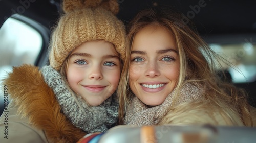
<instances>
[{"instance_id":1,"label":"beige knit scarf around the smiling woman's neck","mask_svg":"<svg viewBox=\"0 0 256 143\"><path fill-rule=\"evenodd\" d=\"M174 89L174 91L175 90L176 89ZM124 123L137 126L157 125L160 117L164 116L167 113L168 108L172 106L174 91L166 97L162 104L151 108L145 105L137 97L134 97L130 107L126 111ZM193 82L185 84L180 91L178 104L199 100L199 98L202 97L202 91L202 85L198 83Z\"/></svg>"}]
</instances>

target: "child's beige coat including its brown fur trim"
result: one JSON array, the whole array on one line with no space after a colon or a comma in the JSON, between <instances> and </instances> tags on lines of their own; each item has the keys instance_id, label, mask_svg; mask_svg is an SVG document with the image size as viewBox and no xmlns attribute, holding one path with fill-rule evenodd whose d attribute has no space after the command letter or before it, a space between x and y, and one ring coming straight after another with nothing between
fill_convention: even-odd
<instances>
[{"instance_id":1,"label":"child's beige coat including its brown fur trim","mask_svg":"<svg viewBox=\"0 0 256 143\"><path fill-rule=\"evenodd\" d=\"M1 143L76 142L86 135L60 111L37 67L14 67L3 85L8 86L8 100L12 102L0 117ZM8 131L4 131L6 127Z\"/></svg>"}]
</instances>

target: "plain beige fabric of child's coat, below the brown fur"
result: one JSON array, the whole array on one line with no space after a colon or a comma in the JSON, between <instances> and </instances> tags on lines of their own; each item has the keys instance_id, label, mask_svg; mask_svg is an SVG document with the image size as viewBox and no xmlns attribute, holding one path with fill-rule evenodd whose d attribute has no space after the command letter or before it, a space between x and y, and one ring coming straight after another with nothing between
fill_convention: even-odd
<instances>
[{"instance_id":1,"label":"plain beige fabric of child's coat, below the brown fur","mask_svg":"<svg viewBox=\"0 0 256 143\"><path fill-rule=\"evenodd\" d=\"M27 117L17 115L17 108L11 104L0 117L1 142L48 142L44 131L29 123Z\"/></svg>"}]
</instances>

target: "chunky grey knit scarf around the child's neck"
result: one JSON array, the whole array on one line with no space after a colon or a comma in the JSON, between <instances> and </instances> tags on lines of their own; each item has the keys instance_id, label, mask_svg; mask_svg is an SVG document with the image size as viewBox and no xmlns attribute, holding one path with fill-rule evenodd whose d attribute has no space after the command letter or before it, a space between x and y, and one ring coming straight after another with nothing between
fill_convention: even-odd
<instances>
[{"instance_id":1,"label":"chunky grey knit scarf around the child's neck","mask_svg":"<svg viewBox=\"0 0 256 143\"><path fill-rule=\"evenodd\" d=\"M101 105L89 107L81 98L73 97L60 73L51 66L41 69L45 82L51 87L62 108L62 112L77 127L87 133L105 132L117 121L118 102L112 95Z\"/></svg>"}]
</instances>

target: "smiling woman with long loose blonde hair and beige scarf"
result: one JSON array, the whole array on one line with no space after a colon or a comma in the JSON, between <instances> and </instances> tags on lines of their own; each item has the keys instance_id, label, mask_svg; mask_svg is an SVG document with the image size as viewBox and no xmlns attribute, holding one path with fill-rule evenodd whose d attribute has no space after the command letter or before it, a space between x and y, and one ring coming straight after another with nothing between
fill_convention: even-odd
<instances>
[{"instance_id":1,"label":"smiling woman with long loose blonde hair and beige scarf","mask_svg":"<svg viewBox=\"0 0 256 143\"><path fill-rule=\"evenodd\" d=\"M216 74L225 60L181 19L161 7L130 23L118 87L121 124L255 125L246 92Z\"/></svg>"}]
</instances>

